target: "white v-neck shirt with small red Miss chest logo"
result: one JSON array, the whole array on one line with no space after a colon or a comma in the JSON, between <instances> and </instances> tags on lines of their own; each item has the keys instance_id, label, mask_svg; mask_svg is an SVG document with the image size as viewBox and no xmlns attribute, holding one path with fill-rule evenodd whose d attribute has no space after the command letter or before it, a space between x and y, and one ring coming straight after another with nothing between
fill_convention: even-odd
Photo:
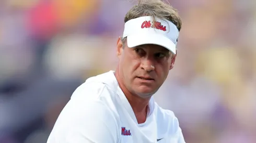
<instances>
[{"instance_id":1,"label":"white v-neck shirt with small red Miss chest logo","mask_svg":"<svg viewBox=\"0 0 256 143\"><path fill-rule=\"evenodd\" d=\"M146 122L138 124L114 71L90 77L73 93L47 143L184 143L176 116L149 101Z\"/></svg>"}]
</instances>

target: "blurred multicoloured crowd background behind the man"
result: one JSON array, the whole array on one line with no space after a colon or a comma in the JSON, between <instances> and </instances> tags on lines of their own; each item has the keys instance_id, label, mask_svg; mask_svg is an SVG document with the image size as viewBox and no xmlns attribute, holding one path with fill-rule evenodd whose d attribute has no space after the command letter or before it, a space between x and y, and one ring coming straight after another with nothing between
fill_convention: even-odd
<instances>
[{"instance_id":1,"label":"blurred multicoloured crowd background behind the man","mask_svg":"<svg viewBox=\"0 0 256 143\"><path fill-rule=\"evenodd\" d=\"M256 142L256 1L171 0L178 57L155 100L188 143ZM45 143L85 80L115 70L124 0L0 1L0 142Z\"/></svg>"}]
</instances>

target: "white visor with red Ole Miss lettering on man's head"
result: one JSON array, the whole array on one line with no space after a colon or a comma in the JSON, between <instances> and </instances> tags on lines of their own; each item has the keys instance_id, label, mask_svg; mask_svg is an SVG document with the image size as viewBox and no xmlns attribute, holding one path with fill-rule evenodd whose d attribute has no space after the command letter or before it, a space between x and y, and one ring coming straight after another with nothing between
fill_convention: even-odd
<instances>
[{"instance_id":1,"label":"white visor with red Ole Miss lettering on man's head","mask_svg":"<svg viewBox=\"0 0 256 143\"><path fill-rule=\"evenodd\" d=\"M125 22L123 37L127 37L129 48L144 44L155 44L176 54L179 30L175 24L166 19L156 18L156 22L153 24L153 18L145 16Z\"/></svg>"}]
</instances>

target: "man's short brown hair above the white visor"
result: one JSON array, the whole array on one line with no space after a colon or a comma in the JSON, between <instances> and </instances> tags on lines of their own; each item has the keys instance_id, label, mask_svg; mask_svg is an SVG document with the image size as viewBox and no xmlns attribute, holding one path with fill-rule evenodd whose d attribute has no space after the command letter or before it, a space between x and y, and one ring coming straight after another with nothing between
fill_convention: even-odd
<instances>
[{"instance_id":1,"label":"man's short brown hair above the white visor","mask_svg":"<svg viewBox=\"0 0 256 143\"><path fill-rule=\"evenodd\" d=\"M137 0L138 4L133 6L125 15L124 22L131 19L135 19L143 16L153 17L153 21L156 18L167 19L176 25L177 29L181 29L181 18L178 15L178 10L174 9L169 3L165 3L161 0ZM121 41L124 45L125 38L121 37Z\"/></svg>"}]
</instances>

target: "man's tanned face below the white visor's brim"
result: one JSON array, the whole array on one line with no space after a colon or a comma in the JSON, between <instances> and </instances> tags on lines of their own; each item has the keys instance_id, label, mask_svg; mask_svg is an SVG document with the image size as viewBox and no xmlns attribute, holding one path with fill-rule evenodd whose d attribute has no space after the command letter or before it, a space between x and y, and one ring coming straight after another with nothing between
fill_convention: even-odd
<instances>
[{"instance_id":1,"label":"man's tanned face below the white visor's brim","mask_svg":"<svg viewBox=\"0 0 256 143\"><path fill-rule=\"evenodd\" d=\"M120 80L132 94L152 96L166 80L176 55L152 44L129 48L125 42L123 48L120 38L117 45Z\"/></svg>"}]
</instances>

